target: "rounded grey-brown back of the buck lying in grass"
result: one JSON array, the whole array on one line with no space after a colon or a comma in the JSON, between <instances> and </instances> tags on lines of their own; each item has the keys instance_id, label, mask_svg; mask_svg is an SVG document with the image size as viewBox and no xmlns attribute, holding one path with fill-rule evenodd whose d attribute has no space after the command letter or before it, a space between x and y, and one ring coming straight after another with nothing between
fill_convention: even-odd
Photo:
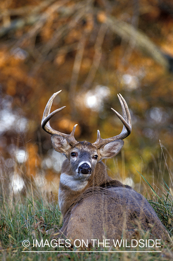
<instances>
[{"instance_id":1,"label":"rounded grey-brown back of the buck lying in grass","mask_svg":"<svg viewBox=\"0 0 173 261\"><path fill-rule=\"evenodd\" d=\"M129 187L108 186L87 189L64 218L67 238L131 239L144 231L152 239L169 241L169 234L145 197Z\"/></svg>"}]
</instances>

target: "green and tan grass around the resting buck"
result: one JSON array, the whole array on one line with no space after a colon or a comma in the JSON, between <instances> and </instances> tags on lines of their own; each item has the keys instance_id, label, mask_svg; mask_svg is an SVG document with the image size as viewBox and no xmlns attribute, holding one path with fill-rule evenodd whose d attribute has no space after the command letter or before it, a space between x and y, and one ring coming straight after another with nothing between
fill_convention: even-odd
<instances>
[{"instance_id":1,"label":"green and tan grass around the resting buck","mask_svg":"<svg viewBox=\"0 0 173 261\"><path fill-rule=\"evenodd\" d=\"M153 189L145 177L142 175L141 177L150 189L151 199L148 199L149 203L170 232L170 235L173 236L173 194L171 189L165 184L162 189L157 188L156 192L156 189ZM51 246L52 235L62 223L57 202L53 200L53 197L52 200L48 200L43 193L38 193L37 189L32 189L31 192L28 190L25 196L21 194L16 196L12 190L5 189L2 181L3 179L0 182L0 260L2 261L173 260L173 244L165 242L161 243L161 247L144 248L139 245L130 248L123 246L114 248L113 244L111 244L109 248L90 248L90 252L78 247L64 247L64 244L61 247L53 245L57 241L52 241ZM144 235L143 240L146 239L147 235ZM24 245L25 240L30 242L29 247ZM33 242L35 244L38 242L39 246L38 244L37 247L33 246Z\"/></svg>"}]
</instances>

